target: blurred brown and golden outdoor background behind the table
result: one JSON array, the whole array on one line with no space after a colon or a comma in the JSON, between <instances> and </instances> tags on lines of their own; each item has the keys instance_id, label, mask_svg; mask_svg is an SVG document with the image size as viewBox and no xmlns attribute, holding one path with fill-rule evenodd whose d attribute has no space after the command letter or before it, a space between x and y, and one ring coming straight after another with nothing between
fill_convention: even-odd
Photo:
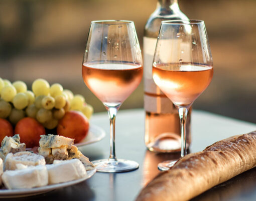
<instances>
[{"instance_id":1,"label":"blurred brown and golden outdoor background behind the table","mask_svg":"<svg viewBox=\"0 0 256 201\"><path fill-rule=\"evenodd\" d=\"M256 0L179 0L191 19L203 19L209 36L214 76L193 104L195 109L256 123ZM0 77L36 78L85 96L94 110L102 103L85 86L81 65L91 20L135 21L143 29L157 0L1 0ZM121 109L143 107L143 83Z\"/></svg>"}]
</instances>

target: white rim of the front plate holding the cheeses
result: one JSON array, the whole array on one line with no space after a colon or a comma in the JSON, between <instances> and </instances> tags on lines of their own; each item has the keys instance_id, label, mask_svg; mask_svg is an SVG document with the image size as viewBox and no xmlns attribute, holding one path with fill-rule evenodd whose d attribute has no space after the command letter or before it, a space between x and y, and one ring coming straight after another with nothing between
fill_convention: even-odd
<instances>
[{"instance_id":1,"label":"white rim of the front plate holding the cheeses","mask_svg":"<svg viewBox=\"0 0 256 201\"><path fill-rule=\"evenodd\" d=\"M45 193L45 192L55 190L58 188L62 188L62 187L67 187L70 185L80 183L80 182L90 178L95 172L96 172L96 168L92 169L92 170L88 170L87 175L84 178L80 178L77 180L68 181L68 182L64 182L64 183L46 185L46 186L42 186L42 187L23 188L23 189L0 189L0 198L25 197L25 196L31 196L31 195Z\"/></svg>"}]
</instances>

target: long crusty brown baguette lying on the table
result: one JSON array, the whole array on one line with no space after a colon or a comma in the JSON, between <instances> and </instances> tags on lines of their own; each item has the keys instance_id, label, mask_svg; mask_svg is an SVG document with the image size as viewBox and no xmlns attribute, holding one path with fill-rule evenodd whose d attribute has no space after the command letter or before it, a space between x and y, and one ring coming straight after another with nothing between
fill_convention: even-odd
<instances>
[{"instance_id":1,"label":"long crusty brown baguette lying on the table","mask_svg":"<svg viewBox=\"0 0 256 201\"><path fill-rule=\"evenodd\" d=\"M256 131L217 141L180 158L143 188L136 200L189 200L254 166Z\"/></svg>"}]
</instances>

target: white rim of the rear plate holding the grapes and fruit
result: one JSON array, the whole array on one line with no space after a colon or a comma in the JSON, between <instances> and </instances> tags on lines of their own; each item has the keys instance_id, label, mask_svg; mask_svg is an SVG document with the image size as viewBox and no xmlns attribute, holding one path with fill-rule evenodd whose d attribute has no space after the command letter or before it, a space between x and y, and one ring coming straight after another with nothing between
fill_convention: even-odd
<instances>
[{"instance_id":1,"label":"white rim of the rear plate holding the grapes and fruit","mask_svg":"<svg viewBox=\"0 0 256 201\"><path fill-rule=\"evenodd\" d=\"M106 133L101 127L90 124L87 136L82 141L75 143L74 145L83 146L86 144L91 144L100 141L102 138L104 138L105 135Z\"/></svg>"}]
</instances>

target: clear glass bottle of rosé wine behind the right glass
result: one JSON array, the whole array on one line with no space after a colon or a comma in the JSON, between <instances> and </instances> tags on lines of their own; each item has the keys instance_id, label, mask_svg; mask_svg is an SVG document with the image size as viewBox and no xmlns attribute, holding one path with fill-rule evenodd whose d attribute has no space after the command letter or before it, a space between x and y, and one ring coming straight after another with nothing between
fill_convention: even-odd
<instances>
[{"instance_id":1,"label":"clear glass bottle of ros\u00e9 wine behind the right glass","mask_svg":"<svg viewBox=\"0 0 256 201\"><path fill-rule=\"evenodd\" d=\"M181 149L178 110L152 78L152 62L161 21L170 19L188 17L181 12L178 0L158 0L156 10L146 23L143 38L145 143L149 150L156 152ZM191 142L190 116L191 109L187 117L187 147Z\"/></svg>"}]
</instances>

